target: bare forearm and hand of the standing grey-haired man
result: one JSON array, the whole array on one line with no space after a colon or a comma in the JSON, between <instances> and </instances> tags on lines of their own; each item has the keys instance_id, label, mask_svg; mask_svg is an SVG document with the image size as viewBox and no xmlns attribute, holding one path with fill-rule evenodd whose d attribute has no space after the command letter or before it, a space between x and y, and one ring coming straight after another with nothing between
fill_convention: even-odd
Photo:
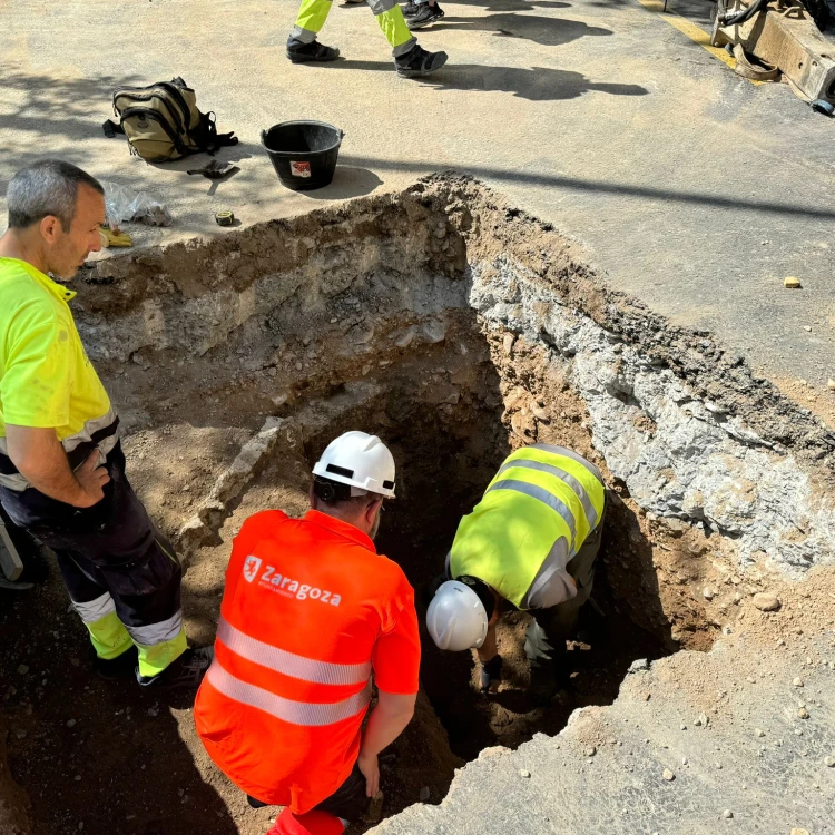
<instances>
[{"instance_id":1,"label":"bare forearm and hand of the standing grey-haired man","mask_svg":"<svg viewBox=\"0 0 835 835\"><path fill-rule=\"evenodd\" d=\"M76 508L90 508L104 499L110 477L98 466L98 452L73 473L53 429L7 424L6 440L12 463L41 493Z\"/></svg>"}]
</instances>

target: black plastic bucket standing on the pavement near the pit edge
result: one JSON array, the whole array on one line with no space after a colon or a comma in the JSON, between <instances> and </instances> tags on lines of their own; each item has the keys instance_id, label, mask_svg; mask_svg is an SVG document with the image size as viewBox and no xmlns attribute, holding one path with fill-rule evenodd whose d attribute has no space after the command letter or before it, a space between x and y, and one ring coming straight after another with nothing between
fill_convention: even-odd
<instances>
[{"instance_id":1,"label":"black plastic bucket standing on the pavement near the pit edge","mask_svg":"<svg viewBox=\"0 0 835 835\"><path fill-rule=\"evenodd\" d=\"M294 191L323 188L333 179L345 134L324 121L283 121L261 131L282 184Z\"/></svg>"}]
</instances>

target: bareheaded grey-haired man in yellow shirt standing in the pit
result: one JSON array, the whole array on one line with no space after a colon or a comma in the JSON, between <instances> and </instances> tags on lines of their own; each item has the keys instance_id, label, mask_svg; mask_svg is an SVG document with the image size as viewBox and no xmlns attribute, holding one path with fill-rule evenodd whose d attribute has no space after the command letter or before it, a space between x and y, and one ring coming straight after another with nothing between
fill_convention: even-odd
<instances>
[{"instance_id":1,"label":"bareheaded grey-haired man in yellow shirt standing in the pit","mask_svg":"<svg viewBox=\"0 0 835 835\"><path fill-rule=\"evenodd\" d=\"M0 237L0 502L58 557L105 678L197 687L210 649L189 649L181 569L125 475L119 419L76 330L69 281L101 247L101 185L36 163L7 191Z\"/></svg>"}]
</instances>

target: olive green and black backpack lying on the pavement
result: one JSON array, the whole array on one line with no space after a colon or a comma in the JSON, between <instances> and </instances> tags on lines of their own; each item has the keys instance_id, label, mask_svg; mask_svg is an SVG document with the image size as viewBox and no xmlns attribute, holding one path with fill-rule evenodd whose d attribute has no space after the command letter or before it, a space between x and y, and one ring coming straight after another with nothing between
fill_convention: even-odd
<instances>
[{"instance_id":1,"label":"olive green and black backpack lying on the pavement","mask_svg":"<svg viewBox=\"0 0 835 835\"><path fill-rule=\"evenodd\" d=\"M114 112L105 136L124 134L130 153L148 163L167 163L189 154L237 145L234 131L218 134L215 114L197 109L197 95L181 78L149 87L120 87L114 92Z\"/></svg>"}]
</instances>

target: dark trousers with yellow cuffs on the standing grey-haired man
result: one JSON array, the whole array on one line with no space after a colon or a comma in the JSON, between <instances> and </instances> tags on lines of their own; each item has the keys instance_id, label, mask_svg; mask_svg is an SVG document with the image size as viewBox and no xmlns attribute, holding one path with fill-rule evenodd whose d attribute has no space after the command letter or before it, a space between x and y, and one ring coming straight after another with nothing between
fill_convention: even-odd
<instances>
[{"instance_id":1,"label":"dark trousers with yellow cuffs on the standing grey-haired man","mask_svg":"<svg viewBox=\"0 0 835 835\"><path fill-rule=\"evenodd\" d=\"M0 501L16 524L56 552L99 658L116 658L136 645L139 671L151 677L186 649L183 571L134 493L119 445L106 465L110 481L92 508L72 508L33 488L0 488Z\"/></svg>"}]
</instances>

